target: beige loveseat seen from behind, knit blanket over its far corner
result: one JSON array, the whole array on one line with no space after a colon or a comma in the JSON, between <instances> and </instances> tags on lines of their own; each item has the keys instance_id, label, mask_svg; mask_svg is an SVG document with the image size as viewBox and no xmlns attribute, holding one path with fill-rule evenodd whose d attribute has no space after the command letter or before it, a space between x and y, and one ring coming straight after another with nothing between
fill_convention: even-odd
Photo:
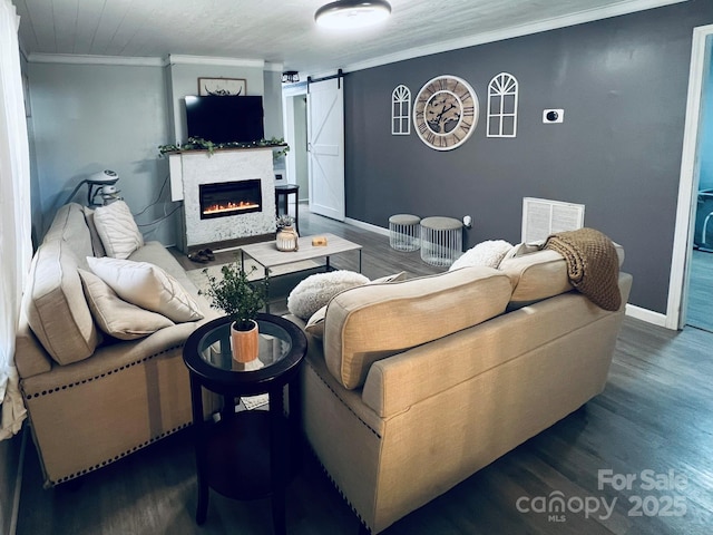
<instances>
[{"instance_id":1,"label":"beige loveseat seen from behind, knit blanket over its far corner","mask_svg":"<svg viewBox=\"0 0 713 535\"><path fill-rule=\"evenodd\" d=\"M548 250L334 296L306 329L302 418L362 523L385 529L599 393L631 283L607 312Z\"/></svg>"}]
</instances>

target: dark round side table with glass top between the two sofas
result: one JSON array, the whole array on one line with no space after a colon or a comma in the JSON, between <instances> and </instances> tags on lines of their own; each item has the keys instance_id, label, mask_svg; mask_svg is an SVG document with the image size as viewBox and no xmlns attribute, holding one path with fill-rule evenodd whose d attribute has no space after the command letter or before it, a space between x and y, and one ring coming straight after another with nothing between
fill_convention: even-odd
<instances>
[{"instance_id":1,"label":"dark round side table with glass top between the two sofas","mask_svg":"<svg viewBox=\"0 0 713 535\"><path fill-rule=\"evenodd\" d=\"M229 325L229 318L205 323L188 337L183 352L191 376L198 479L196 523L206 519L213 488L233 499L271 496L274 532L284 534L285 486L300 460L296 379L306 353L306 338L284 318L258 314L260 356L245 366L233 360ZM286 385L289 416L284 414ZM203 388L224 397L215 424L204 419ZM268 395L268 411L235 410L236 397L260 393Z\"/></svg>"}]
</instances>

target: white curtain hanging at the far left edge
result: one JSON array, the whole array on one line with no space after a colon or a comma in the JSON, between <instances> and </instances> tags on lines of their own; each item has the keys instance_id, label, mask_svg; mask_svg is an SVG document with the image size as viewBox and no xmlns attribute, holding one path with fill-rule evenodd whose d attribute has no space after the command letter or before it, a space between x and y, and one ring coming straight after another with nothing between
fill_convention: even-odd
<instances>
[{"instance_id":1,"label":"white curtain hanging at the far left edge","mask_svg":"<svg viewBox=\"0 0 713 535\"><path fill-rule=\"evenodd\" d=\"M14 333L32 255L19 22L12 2L0 0L0 440L17 434L26 417L14 368Z\"/></svg>"}]
</instances>

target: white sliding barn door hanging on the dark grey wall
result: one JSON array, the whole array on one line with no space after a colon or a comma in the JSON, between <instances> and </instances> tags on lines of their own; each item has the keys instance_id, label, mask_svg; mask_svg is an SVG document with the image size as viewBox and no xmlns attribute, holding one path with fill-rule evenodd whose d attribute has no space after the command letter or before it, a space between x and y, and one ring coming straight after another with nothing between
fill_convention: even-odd
<instances>
[{"instance_id":1,"label":"white sliding barn door hanging on the dark grey wall","mask_svg":"<svg viewBox=\"0 0 713 535\"><path fill-rule=\"evenodd\" d=\"M341 78L310 84L310 212L344 221L344 95Z\"/></svg>"}]
</instances>

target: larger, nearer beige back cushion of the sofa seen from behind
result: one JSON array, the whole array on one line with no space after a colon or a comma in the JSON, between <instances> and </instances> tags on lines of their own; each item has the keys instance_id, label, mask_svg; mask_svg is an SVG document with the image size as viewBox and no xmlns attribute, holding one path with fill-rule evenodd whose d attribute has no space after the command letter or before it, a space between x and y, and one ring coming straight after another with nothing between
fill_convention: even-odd
<instances>
[{"instance_id":1,"label":"larger, nearer beige back cushion of the sofa seen from behind","mask_svg":"<svg viewBox=\"0 0 713 535\"><path fill-rule=\"evenodd\" d=\"M358 388L372 362L500 314L511 291L506 274L485 266L345 290L326 309L328 369Z\"/></svg>"}]
</instances>

